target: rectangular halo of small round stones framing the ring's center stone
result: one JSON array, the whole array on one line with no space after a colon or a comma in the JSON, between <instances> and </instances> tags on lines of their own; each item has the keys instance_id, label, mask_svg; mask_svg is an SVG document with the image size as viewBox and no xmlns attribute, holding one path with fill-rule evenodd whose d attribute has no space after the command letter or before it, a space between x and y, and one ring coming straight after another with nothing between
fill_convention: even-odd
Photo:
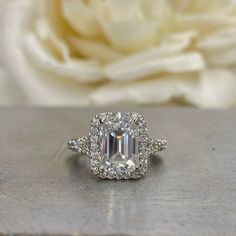
<instances>
[{"instance_id":1,"label":"rectangular halo of small round stones framing the ring's center stone","mask_svg":"<svg viewBox=\"0 0 236 236\"><path fill-rule=\"evenodd\" d=\"M101 153L101 129L105 125L107 129L127 129L135 124L133 130L137 132L138 137L138 163L127 171L125 168L115 168L113 165L104 166L102 164L104 156ZM136 128L137 127L137 128ZM148 136L147 125L144 118L131 112L106 112L96 115L90 126L90 156L91 170L94 175L100 178L108 179L137 179L142 177L147 170L148 159Z\"/></svg>"}]
</instances>

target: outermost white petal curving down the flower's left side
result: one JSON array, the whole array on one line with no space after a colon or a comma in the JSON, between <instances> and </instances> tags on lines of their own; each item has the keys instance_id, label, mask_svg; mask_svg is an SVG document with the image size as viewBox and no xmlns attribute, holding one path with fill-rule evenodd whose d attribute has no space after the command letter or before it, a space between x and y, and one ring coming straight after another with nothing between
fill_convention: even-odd
<instances>
[{"instance_id":1,"label":"outermost white petal curving down the flower's left side","mask_svg":"<svg viewBox=\"0 0 236 236\"><path fill-rule=\"evenodd\" d=\"M36 2L36 1L35 1ZM4 66L9 73L11 104L21 105L85 105L92 88L66 80L32 66L25 55L24 38L32 30L37 5L34 1L11 0L4 3L2 42ZM7 27L6 27L7 26ZM13 60L14 59L14 60Z\"/></svg>"}]
</instances>

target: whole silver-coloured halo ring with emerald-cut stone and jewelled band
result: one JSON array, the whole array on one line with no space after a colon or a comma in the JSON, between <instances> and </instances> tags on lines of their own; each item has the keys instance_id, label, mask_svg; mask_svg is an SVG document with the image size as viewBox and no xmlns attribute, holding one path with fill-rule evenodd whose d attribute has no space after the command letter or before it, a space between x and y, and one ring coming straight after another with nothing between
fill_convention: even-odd
<instances>
[{"instance_id":1,"label":"whole silver-coloured halo ring with emerald-cut stone and jewelled band","mask_svg":"<svg viewBox=\"0 0 236 236\"><path fill-rule=\"evenodd\" d=\"M69 149L90 157L92 173L103 179L142 177L148 157L166 147L166 140L148 136L146 121L132 112L99 113L88 136L68 142Z\"/></svg>"}]
</instances>

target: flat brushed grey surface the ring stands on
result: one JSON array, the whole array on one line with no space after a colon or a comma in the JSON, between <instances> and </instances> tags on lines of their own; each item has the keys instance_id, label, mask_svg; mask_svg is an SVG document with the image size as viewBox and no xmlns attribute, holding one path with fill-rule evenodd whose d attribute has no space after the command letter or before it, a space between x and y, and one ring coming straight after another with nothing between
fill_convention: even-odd
<instances>
[{"instance_id":1,"label":"flat brushed grey surface the ring stands on","mask_svg":"<svg viewBox=\"0 0 236 236\"><path fill-rule=\"evenodd\" d=\"M127 109L169 146L111 181L65 149L104 110L0 108L0 235L236 234L236 111Z\"/></svg>"}]
</instances>

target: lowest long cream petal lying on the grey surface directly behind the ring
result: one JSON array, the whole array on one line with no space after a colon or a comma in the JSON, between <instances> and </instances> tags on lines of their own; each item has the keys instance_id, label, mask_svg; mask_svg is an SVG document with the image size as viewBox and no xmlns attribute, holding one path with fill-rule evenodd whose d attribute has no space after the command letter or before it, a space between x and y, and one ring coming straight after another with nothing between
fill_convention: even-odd
<instances>
[{"instance_id":1,"label":"lowest long cream petal lying on the grey surface directly behind the ring","mask_svg":"<svg viewBox=\"0 0 236 236\"><path fill-rule=\"evenodd\" d=\"M163 104L182 97L195 83L196 76L173 75L139 81L136 83L110 83L94 92L91 99L96 104ZM104 96L106 94L106 96ZM107 99L109 97L109 99Z\"/></svg>"}]
</instances>

